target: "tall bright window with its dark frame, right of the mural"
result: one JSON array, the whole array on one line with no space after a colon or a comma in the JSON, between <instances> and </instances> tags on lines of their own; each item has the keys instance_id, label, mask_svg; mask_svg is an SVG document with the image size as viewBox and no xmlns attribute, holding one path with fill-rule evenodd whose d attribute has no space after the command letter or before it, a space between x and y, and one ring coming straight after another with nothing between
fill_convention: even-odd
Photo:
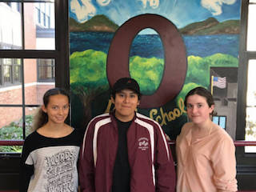
<instances>
[{"instance_id":1,"label":"tall bright window with its dark frame, right of the mural","mask_svg":"<svg viewBox=\"0 0 256 192\"><path fill-rule=\"evenodd\" d=\"M255 69L256 46L254 22L256 1L242 1L240 50L238 66L238 108L236 140L256 141L255 125ZM238 177L255 177L256 149L254 146L238 146L236 148ZM251 178L247 178L249 181ZM245 181L246 183L246 181ZM249 187L249 186L248 186ZM247 188L248 188L247 187ZM249 187L250 188L250 187Z\"/></svg>"}]
</instances>

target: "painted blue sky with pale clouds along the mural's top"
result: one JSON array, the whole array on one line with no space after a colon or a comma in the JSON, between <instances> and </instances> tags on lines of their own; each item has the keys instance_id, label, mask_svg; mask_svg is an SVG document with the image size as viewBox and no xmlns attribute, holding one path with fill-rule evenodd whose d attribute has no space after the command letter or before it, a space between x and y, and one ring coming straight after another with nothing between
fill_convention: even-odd
<instances>
[{"instance_id":1,"label":"painted blue sky with pale clouds along the mural's top","mask_svg":"<svg viewBox=\"0 0 256 192\"><path fill-rule=\"evenodd\" d=\"M178 28L214 17L240 19L241 0L70 0L70 17L86 22L104 14L121 26L138 14L160 14Z\"/></svg>"}]
</instances>

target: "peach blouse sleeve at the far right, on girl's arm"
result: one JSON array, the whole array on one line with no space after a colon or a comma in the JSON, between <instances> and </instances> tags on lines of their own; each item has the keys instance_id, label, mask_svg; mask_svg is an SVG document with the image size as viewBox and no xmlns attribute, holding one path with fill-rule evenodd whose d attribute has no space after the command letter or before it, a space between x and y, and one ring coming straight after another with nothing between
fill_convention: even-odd
<instances>
[{"instance_id":1,"label":"peach blouse sleeve at the far right, on girl's arm","mask_svg":"<svg viewBox=\"0 0 256 192\"><path fill-rule=\"evenodd\" d=\"M235 147L232 139L222 139L215 155L214 184L218 191L237 191Z\"/></svg>"}]
</instances>

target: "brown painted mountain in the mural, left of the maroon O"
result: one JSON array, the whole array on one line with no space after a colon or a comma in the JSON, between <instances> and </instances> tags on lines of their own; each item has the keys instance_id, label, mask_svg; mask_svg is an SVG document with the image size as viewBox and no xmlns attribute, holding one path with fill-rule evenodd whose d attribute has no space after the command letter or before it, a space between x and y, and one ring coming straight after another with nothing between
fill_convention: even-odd
<instances>
[{"instance_id":1,"label":"brown painted mountain in the mural, left of the maroon O","mask_svg":"<svg viewBox=\"0 0 256 192\"><path fill-rule=\"evenodd\" d=\"M118 29L118 25L112 22L103 14L98 14L90 18L87 22L79 23L70 18L70 32L82 31L98 31L98 32L114 32Z\"/></svg>"}]
</instances>

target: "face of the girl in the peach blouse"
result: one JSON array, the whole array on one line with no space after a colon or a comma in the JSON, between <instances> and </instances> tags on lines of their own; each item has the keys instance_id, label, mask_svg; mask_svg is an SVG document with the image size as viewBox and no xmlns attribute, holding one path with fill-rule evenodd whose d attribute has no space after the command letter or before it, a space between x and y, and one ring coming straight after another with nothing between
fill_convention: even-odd
<instances>
[{"instance_id":1,"label":"face of the girl in the peach blouse","mask_svg":"<svg viewBox=\"0 0 256 192\"><path fill-rule=\"evenodd\" d=\"M214 110L214 105L208 106L206 98L194 94L187 98L186 113L190 118L190 121L195 124L200 124L210 120L210 114Z\"/></svg>"}]
</instances>

